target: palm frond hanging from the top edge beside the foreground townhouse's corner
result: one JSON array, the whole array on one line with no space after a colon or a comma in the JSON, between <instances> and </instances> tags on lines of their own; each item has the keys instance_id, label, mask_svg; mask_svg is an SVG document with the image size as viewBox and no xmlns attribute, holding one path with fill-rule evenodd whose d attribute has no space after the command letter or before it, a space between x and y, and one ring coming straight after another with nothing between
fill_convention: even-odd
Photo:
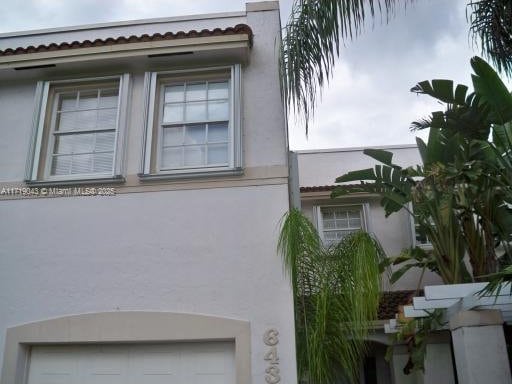
<instances>
[{"instance_id":1,"label":"palm frond hanging from the top edge beside the foreground townhouse's corner","mask_svg":"<svg viewBox=\"0 0 512 384\"><path fill-rule=\"evenodd\" d=\"M294 0L284 28L280 72L284 99L303 117L306 134L317 91L332 75L340 45L359 35L376 11L386 21L414 0Z\"/></svg>"}]
</instances>

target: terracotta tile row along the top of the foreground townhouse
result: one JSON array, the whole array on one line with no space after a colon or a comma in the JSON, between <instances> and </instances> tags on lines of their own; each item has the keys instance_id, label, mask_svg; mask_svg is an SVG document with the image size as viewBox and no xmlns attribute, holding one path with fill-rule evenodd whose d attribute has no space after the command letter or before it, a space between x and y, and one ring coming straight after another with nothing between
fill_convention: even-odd
<instances>
[{"instance_id":1,"label":"terracotta tile row along the top of the foreground townhouse","mask_svg":"<svg viewBox=\"0 0 512 384\"><path fill-rule=\"evenodd\" d=\"M51 52L51 51L61 51L66 49L77 49L77 48L90 48L90 47L102 47L109 45L120 45L120 44L130 44L130 43L142 43L148 41L162 41L162 40L178 40L178 39L187 39L193 37L210 37L210 36L227 36L227 35L248 35L249 36L249 44L252 45L253 33L251 28L246 24L237 24L234 27L228 27L225 29L215 28L215 29L203 29L201 31L191 30L188 32L180 31L180 32L167 32L164 34L155 33L153 35L141 35L141 36L121 36L118 38L106 38L106 39L96 39L94 41L84 40L84 41L73 41L73 42L62 42L60 44L51 43L48 45L39 45L28 46L28 47L18 47L18 48L6 48L4 50L0 50L0 56L11 56L11 55L22 55L27 53L40 53L40 52Z\"/></svg>"}]
</instances>

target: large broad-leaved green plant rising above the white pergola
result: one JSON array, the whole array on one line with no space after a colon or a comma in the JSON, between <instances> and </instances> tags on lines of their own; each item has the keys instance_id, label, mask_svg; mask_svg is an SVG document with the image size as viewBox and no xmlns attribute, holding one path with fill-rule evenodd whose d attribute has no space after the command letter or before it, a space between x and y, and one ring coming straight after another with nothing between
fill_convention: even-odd
<instances>
[{"instance_id":1,"label":"large broad-leaved green plant rising above the white pergola","mask_svg":"<svg viewBox=\"0 0 512 384\"><path fill-rule=\"evenodd\" d=\"M417 139L422 165L402 168L390 152L366 150L381 164L338 177L337 182L361 184L339 186L332 194L377 193L386 215L412 207L433 249L428 255L406 251L394 263L430 269L447 284L481 279L511 261L512 96L484 60L474 57L471 65L472 93L451 80L422 81L412 88L446 105L412 124L430 129L426 143ZM494 142L488 141L491 135ZM473 276L463 261L466 254ZM399 269L393 279L409 268Z\"/></svg>"}]
</instances>

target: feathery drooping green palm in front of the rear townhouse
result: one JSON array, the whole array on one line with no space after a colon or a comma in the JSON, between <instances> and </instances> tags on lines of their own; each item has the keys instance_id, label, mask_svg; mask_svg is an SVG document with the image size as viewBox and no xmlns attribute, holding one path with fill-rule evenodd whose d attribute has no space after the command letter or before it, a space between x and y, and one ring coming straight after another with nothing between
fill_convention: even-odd
<instances>
[{"instance_id":1,"label":"feathery drooping green palm in front of the rear townhouse","mask_svg":"<svg viewBox=\"0 0 512 384\"><path fill-rule=\"evenodd\" d=\"M377 316L382 248L363 232L325 247L293 209L283 218L279 251L293 287L299 379L355 382Z\"/></svg>"}]
</instances>

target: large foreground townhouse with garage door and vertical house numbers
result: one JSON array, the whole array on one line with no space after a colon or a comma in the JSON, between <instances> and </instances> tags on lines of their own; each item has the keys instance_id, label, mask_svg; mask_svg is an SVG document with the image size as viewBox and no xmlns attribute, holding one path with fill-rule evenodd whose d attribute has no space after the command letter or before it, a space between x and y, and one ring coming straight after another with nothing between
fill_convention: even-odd
<instances>
[{"instance_id":1,"label":"large foreground townhouse with garage door and vertical house numbers","mask_svg":"<svg viewBox=\"0 0 512 384\"><path fill-rule=\"evenodd\" d=\"M1 384L297 382L280 32L0 35Z\"/></svg>"}]
</instances>

